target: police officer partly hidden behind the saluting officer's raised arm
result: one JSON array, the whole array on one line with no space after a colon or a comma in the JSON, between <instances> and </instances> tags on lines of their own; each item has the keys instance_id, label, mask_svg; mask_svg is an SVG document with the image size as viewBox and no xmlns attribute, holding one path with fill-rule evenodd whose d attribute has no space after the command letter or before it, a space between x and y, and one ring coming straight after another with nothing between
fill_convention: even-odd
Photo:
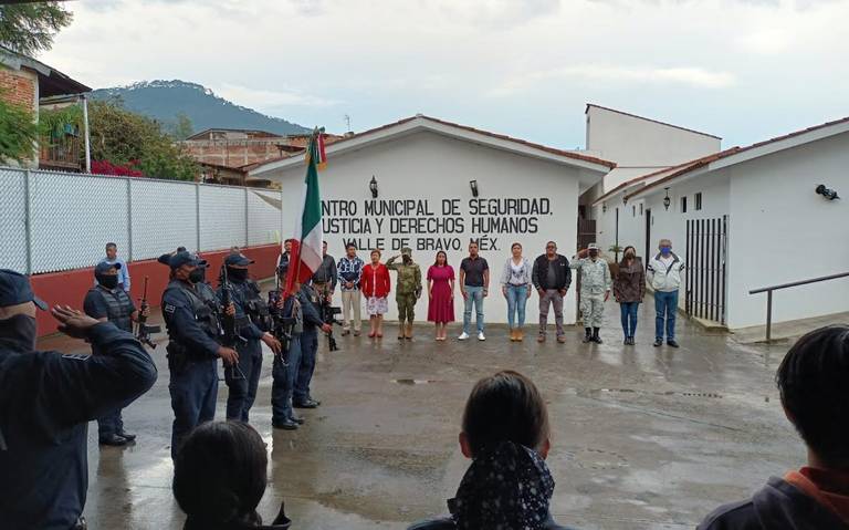
<instances>
[{"instance_id":1,"label":"police officer partly hidden behind the saluting officer's raised arm","mask_svg":"<svg viewBox=\"0 0 849 530\"><path fill-rule=\"evenodd\" d=\"M112 322L117 329L133 333L133 322L138 321L138 311L129 294L118 285L120 267L120 263L107 261L97 263L94 268L97 285L85 294L83 311L93 319ZM101 445L124 446L136 439L136 435L124 430L120 408L97 418L97 430Z\"/></svg>"}]
</instances>

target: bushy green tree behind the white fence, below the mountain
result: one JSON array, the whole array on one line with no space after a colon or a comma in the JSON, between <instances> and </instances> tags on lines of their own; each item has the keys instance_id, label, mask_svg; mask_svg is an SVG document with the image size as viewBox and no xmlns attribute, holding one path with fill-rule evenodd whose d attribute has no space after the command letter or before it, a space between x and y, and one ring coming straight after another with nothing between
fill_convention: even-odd
<instances>
[{"instance_id":1,"label":"bushy green tree behind the white fence, below the mountain","mask_svg":"<svg viewBox=\"0 0 849 530\"><path fill-rule=\"evenodd\" d=\"M195 160L156 122L119 103L91 102L88 124L93 160L134 168L147 177L192 180L198 175Z\"/></svg>"}]
</instances>

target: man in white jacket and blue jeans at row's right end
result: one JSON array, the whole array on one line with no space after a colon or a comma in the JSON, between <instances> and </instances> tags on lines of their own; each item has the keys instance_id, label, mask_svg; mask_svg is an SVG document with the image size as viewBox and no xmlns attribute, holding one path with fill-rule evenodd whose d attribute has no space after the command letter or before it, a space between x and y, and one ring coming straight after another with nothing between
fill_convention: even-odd
<instances>
[{"instance_id":1,"label":"man in white jacket and blue jeans at row's right end","mask_svg":"<svg viewBox=\"0 0 849 530\"><path fill-rule=\"evenodd\" d=\"M684 260L672 252L672 241L661 239L660 252L649 260L647 268L649 283L654 289L654 347L663 345L665 323L667 344L678 347L675 342L675 312L678 311L678 289L681 287L681 271Z\"/></svg>"}]
</instances>

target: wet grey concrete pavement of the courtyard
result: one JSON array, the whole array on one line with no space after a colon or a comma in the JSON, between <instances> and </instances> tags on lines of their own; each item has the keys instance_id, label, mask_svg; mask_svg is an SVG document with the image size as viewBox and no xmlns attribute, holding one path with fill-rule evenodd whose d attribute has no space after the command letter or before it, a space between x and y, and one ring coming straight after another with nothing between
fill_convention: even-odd
<instances>
[{"instance_id":1,"label":"wet grey concrete pavement of the courtyard","mask_svg":"<svg viewBox=\"0 0 849 530\"><path fill-rule=\"evenodd\" d=\"M426 325L412 343L399 343L394 325L380 342L339 337L340 351L319 352L313 394L323 405L304 411L307 423L295 433L271 427L266 352L251 415L271 454L261 512L270 519L285 500L296 529L349 530L402 529L444 512L468 466L457 444L464 401L478 378L502 368L531 376L549 404L552 511L562 523L693 528L719 503L800 465L803 446L773 383L787 345L741 345L679 320L682 347L654 349L648 300L637 346L621 344L612 302L604 345L581 344L575 328L566 344L551 333L543 345L534 326L520 344L501 326L489 329L485 343L436 343ZM99 449L91 424L90 528L181 527L170 491L164 344L153 352L158 382L124 413L138 441ZM62 345L85 350L75 341ZM218 417L226 395L221 383Z\"/></svg>"}]
</instances>

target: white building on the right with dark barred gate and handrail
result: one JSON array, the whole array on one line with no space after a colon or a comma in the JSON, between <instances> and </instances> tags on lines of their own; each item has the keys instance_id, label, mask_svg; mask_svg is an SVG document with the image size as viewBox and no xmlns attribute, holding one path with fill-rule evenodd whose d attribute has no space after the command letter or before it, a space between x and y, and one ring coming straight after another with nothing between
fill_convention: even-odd
<instances>
[{"instance_id":1,"label":"white building on the right with dark barred gate and handrail","mask_svg":"<svg viewBox=\"0 0 849 530\"><path fill-rule=\"evenodd\" d=\"M591 210L638 254L672 240L689 263L683 311L730 329L763 325L766 297L750 290L849 270L847 205L816 191L849 194L848 132L846 118L695 158L616 186ZM847 310L849 282L814 283L776 291L773 321Z\"/></svg>"}]
</instances>

